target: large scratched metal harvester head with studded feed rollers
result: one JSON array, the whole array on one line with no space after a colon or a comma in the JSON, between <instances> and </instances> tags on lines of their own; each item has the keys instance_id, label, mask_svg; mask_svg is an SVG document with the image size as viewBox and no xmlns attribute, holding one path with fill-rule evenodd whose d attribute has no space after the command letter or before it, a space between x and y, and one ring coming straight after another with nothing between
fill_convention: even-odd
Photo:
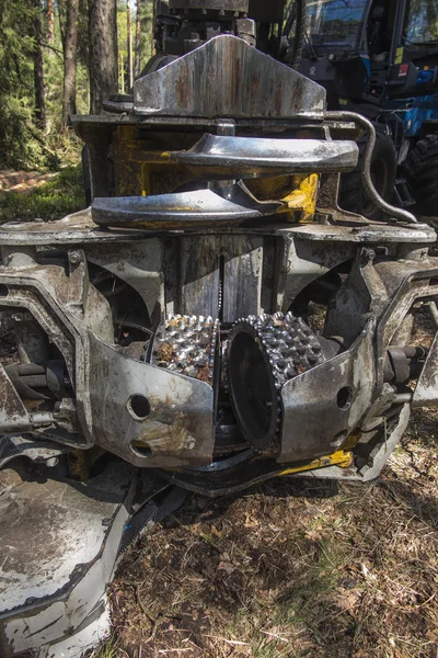
<instances>
[{"instance_id":1,"label":"large scratched metal harvester head with studded feed rollers","mask_svg":"<svg viewBox=\"0 0 438 658\"><path fill-rule=\"evenodd\" d=\"M0 229L4 658L95 644L118 556L185 491L369 481L438 402L435 231L288 66L302 3L161 4L132 94L72 117L90 207ZM337 203L362 135L379 223Z\"/></svg>"}]
</instances>

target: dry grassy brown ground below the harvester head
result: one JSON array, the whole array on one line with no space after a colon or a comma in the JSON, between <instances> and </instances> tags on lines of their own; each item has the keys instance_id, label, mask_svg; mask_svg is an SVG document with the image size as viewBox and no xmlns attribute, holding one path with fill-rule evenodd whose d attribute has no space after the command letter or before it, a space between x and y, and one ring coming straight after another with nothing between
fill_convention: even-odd
<instances>
[{"instance_id":1,"label":"dry grassy brown ground below the harvester head","mask_svg":"<svg viewBox=\"0 0 438 658\"><path fill-rule=\"evenodd\" d=\"M437 418L414 413L371 485L189 498L125 557L94 656L436 658Z\"/></svg>"}]
</instances>

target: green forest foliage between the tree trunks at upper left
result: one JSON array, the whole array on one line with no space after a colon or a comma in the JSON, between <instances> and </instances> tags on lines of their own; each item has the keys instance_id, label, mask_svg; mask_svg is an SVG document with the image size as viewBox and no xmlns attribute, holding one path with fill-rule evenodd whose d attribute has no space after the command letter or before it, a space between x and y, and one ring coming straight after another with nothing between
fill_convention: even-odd
<instances>
[{"instance_id":1,"label":"green forest foliage between the tree trunks at upper left","mask_svg":"<svg viewBox=\"0 0 438 658\"><path fill-rule=\"evenodd\" d=\"M55 0L55 38L45 43L46 0L0 0L0 169L49 169L78 162L81 141L61 121L65 29L69 0ZM89 0L79 0L77 112L90 111ZM132 9L135 46L137 0ZM127 90L127 1L117 0L119 89ZM35 121L34 53L35 18L41 14L44 45L44 82L47 122L42 131ZM150 57L153 1L141 0L141 67Z\"/></svg>"}]
</instances>

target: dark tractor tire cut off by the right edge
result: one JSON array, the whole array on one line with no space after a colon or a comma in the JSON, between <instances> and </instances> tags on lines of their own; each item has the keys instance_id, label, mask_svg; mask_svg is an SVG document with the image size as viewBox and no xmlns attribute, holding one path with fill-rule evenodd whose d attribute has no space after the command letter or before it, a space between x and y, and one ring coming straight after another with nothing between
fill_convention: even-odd
<instances>
[{"instance_id":1,"label":"dark tractor tire cut off by the right edge","mask_svg":"<svg viewBox=\"0 0 438 658\"><path fill-rule=\"evenodd\" d=\"M426 135L410 151L404 171L417 215L438 215L438 135Z\"/></svg>"}]
</instances>

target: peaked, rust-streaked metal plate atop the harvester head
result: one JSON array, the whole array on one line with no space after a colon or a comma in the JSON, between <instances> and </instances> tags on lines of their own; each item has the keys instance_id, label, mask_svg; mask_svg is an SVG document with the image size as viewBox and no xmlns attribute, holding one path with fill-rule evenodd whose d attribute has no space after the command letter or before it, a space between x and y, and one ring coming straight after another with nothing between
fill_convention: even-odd
<instances>
[{"instance_id":1,"label":"peaked, rust-streaked metal plate atop the harvester head","mask_svg":"<svg viewBox=\"0 0 438 658\"><path fill-rule=\"evenodd\" d=\"M243 39L217 36L134 84L137 114L323 118L325 90Z\"/></svg>"}]
</instances>

